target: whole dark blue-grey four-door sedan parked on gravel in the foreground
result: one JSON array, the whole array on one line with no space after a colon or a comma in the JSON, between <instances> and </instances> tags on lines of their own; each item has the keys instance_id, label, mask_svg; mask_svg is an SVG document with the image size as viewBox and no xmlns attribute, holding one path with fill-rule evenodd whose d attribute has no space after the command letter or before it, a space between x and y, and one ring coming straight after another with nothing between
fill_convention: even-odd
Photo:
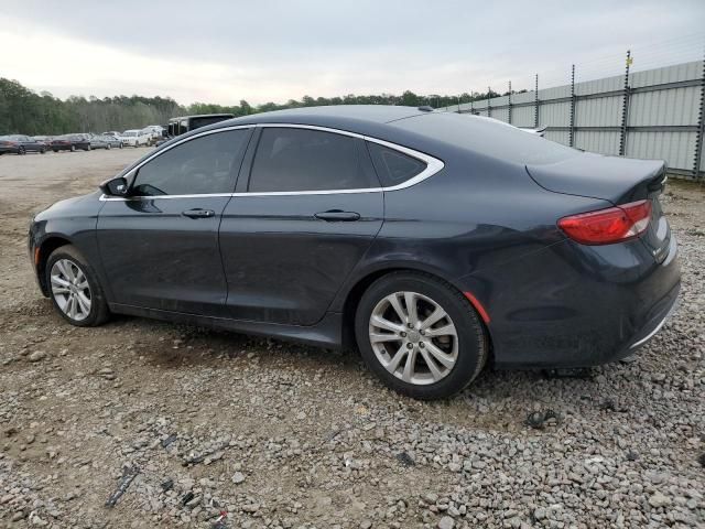
<instances>
[{"instance_id":1,"label":"whole dark blue-grey four-door sedan parked on gravel in the foreground","mask_svg":"<svg viewBox=\"0 0 705 529\"><path fill-rule=\"evenodd\" d=\"M192 131L33 219L42 293L110 313L357 345L445 398L484 368L627 356L672 314L665 164L424 107L332 106Z\"/></svg>"}]
</instances>

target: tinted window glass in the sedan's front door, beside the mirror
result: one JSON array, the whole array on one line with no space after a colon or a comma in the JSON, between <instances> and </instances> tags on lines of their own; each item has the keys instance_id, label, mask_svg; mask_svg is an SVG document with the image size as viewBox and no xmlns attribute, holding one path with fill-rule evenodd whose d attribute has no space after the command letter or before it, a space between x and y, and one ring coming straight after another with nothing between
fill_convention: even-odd
<instances>
[{"instance_id":1,"label":"tinted window glass in the sedan's front door, beside the mirror","mask_svg":"<svg viewBox=\"0 0 705 529\"><path fill-rule=\"evenodd\" d=\"M250 129L228 130L176 145L139 169L131 194L231 193L249 137Z\"/></svg>"}]
</instances>

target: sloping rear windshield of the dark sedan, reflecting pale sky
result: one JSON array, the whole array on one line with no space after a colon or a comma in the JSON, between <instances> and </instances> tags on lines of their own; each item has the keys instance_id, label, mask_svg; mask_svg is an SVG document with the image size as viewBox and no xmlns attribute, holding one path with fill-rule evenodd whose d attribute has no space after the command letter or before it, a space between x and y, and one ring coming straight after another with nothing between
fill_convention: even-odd
<instances>
[{"instance_id":1,"label":"sloping rear windshield of the dark sedan, reflecting pale sky","mask_svg":"<svg viewBox=\"0 0 705 529\"><path fill-rule=\"evenodd\" d=\"M453 112L433 112L389 125L454 147L524 165L556 163L581 151L501 121Z\"/></svg>"}]
</instances>

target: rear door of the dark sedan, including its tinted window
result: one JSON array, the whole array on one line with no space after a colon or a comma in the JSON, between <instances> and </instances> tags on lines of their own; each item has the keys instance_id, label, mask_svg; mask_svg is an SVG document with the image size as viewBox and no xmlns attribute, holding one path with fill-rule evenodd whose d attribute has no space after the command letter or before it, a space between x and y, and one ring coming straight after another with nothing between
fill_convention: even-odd
<instances>
[{"instance_id":1,"label":"rear door of the dark sedan, including its tinted window","mask_svg":"<svg viewBox=\"0 0 705 529\"><path fill-rule=\"evenodd\" d=\"M318 322L382 225L364 141L316 128L258 129L220 225L231 317Z\"/></svg>"}]
</instances>

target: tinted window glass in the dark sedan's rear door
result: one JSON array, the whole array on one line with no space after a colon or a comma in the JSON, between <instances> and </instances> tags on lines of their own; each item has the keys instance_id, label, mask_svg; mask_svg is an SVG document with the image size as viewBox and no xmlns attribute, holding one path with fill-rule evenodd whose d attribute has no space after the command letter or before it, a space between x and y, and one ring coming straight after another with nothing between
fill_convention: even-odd
<instances>
[{"instance_id":1,"label":"tinted window glass in the dark sedan's rear door","mask_svg":"<svg viewBox=\"0 0 705 529\"><path fill-rule=\"evenodd\" d=\"M379 187L366 171L356 138L295 128L264 128L252 161L254 193ZM369 164L369 161L368 161Z\"/></svg>"}]
</instances>

